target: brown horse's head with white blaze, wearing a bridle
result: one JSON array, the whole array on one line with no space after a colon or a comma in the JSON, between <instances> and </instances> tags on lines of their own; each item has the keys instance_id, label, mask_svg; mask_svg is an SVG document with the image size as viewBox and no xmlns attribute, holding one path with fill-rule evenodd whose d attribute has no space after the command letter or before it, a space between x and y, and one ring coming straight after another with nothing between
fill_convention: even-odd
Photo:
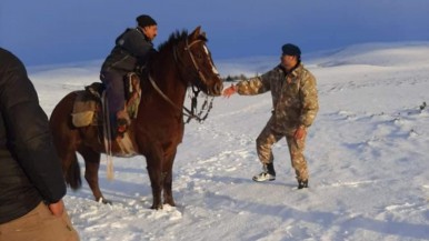
<instances>
[{"instance_id":1,"label":"brown horse's head with white blaze, wearing a bridle","mask_svg":"<svg viewBox=\"0 0 429 241\"><path fill-rule=\"evenodd\" d=\"M197 27L179 46L177 56L180 56L180 61L183 64L184 78L192 86L209 96L220 96L223 83L206 43L206 33L201 32L201 27Z\"/></svg>"}]
</instances>

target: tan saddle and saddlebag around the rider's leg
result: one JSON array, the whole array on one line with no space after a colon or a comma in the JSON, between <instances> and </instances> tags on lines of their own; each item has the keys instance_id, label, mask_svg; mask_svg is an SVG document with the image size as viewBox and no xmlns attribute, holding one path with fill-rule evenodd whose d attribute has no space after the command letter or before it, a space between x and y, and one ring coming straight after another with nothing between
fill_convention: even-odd
<instances>
[{"instance_id":1,"label":"tan saddle and saddlebag around the rider's leg","mask_svg":"<svg viewBox=\"0 0 429 241\"><path fill-rule=\"evenodd\" d=\"M141 99L140 78L137 73L130 72L124 78L126 109L131 119L136 119ZM77 128L89 125L102 125L103 113L102 102L104 86L101 82L93 82L84 87L83 91L76 91L77 98L71 113L72 124Z\"/></svg>"}]
</instances>

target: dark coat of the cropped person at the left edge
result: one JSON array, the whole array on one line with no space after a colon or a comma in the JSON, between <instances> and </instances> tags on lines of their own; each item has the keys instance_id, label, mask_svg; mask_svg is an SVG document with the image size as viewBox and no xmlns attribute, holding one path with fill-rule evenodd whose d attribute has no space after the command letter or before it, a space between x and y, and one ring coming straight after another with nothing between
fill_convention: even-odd
<instances>
[{"instance_id":1,"label":"dark coat of the cropped person at the left edge","mask_svg":"<svg viewBox=\"0 0 429 241\"><path fill-rule=\"evenodd\" d=\"M0 223L66 194L48 118L26 68L0 48Z\"/></svg>"}]
</instances>

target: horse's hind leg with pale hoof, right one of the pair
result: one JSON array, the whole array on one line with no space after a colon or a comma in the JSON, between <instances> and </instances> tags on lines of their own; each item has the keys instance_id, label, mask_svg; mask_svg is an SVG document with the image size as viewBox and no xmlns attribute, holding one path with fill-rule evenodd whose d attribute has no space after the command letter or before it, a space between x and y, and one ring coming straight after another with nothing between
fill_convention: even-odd
<instances>
[{"instance_id":1,"label":"horse's hind leg with pale hoof, right one of the pair","mask_svg":"<svg viewBox=\"0 0 429 241\"><path fill-rule=\"evenodd\" d=\"M91 188L96 201L101 201L104 204L111 204L111 201L104 199L104 197L102 195L98 182L98 171L100 169L101 154L90 148L80 148L79 153L83 157L84 160L84 179Z\"/></svg>"}]
</instances>

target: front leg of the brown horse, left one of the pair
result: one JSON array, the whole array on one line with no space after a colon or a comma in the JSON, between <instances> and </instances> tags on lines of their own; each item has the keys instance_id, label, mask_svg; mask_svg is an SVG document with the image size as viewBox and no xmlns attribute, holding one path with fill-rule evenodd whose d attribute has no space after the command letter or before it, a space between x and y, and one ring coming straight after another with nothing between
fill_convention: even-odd
<instances>
[{"instance_id":1,"label":"front leg of the brown horse, left one of the pair","mask_svg":"<svg viewBox=\"0 0 429 241\"><path fill-rule=\"evenodd\" d=\"M161 148L156 148L151 154L147 157L148 172L150 178L150 184L152 188L153 203L151 209L162 209L161 191L163 177L161 173L163 153Z\"/></svg>"}]
</instances>

